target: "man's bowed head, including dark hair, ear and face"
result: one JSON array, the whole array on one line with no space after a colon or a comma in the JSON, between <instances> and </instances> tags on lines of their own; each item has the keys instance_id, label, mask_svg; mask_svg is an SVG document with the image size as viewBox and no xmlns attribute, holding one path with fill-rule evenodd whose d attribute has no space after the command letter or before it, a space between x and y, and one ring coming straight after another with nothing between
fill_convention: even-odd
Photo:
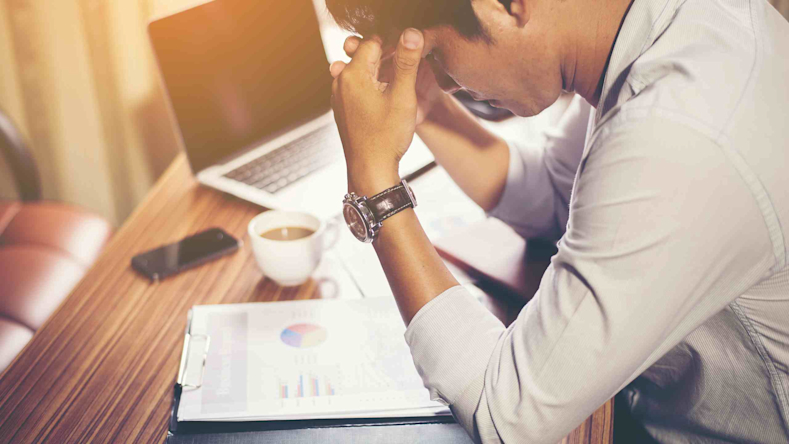
<instances>
[{"instance_id":1,"label":"man's bowed head, including dark hair, ear and face","mask_svg":"<svg viewBox=\"0 0 789 444\"><path fill-rule=\"evenodd\" d=\"M563 87L566 24L557 0L327 0L346 29L385 40L422 30L444 91L458 88L521 116L539 113Z\"/></svg>"}]
</instances>

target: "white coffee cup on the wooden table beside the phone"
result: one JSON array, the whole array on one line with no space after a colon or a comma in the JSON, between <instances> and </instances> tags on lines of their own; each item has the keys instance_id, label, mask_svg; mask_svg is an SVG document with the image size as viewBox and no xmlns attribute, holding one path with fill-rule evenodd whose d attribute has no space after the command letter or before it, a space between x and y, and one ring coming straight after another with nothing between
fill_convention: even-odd
<instances>
[{"instance_id":1,"label":"white coffee cup on the wooden table beside the phone","mask_svg":"<svg viewBox=\"0 0 789 444\"><path fill-rule=\"evenodd\" d=\"M283 227L312 230L307 237L295 240L272 240L261 236ZM326 224L317 217L297 211L269 210L249 221L249 238L260 271L284 287L301 285L320 264L326 245Z\"/></svg>"}]
</instances>

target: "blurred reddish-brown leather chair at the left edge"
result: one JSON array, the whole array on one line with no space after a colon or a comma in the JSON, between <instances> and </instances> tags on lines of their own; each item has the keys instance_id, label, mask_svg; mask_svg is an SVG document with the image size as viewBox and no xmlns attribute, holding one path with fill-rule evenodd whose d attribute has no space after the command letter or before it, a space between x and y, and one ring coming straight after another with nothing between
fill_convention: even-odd
<instances>
[{"instance_id":1,"label":"blurred reddish-brown leather chair at the left edge","mask_svg":"<svg viewBox=\"0 0 789 444\"><path fill-rule=\"evenodd\" d=\"M0 201L0 373L82 279L112 235L103 218L41 201L35 161L0 110L0 153L20 200Z\"/></svg>"}]
</instances>

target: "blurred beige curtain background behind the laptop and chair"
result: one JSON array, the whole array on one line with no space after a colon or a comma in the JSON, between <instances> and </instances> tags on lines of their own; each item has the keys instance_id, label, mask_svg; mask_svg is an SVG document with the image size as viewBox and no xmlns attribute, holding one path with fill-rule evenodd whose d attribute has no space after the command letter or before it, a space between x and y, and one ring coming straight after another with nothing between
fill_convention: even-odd
<instances>
[{"instance_id":1,"label":"blurred beige curtain background behind the laptop and chair","mask_svg":"<svg viewBox=\"0 0 789 444\"><path fill-rule=\"evenodd\" d=\"M772 2L789 17L789 0ZM179 148L145 27L197 3L0 0L0 108L27 137L46 199L120 225L169 165ZM0 159L0 198L14 197Z\"/></svg>"}]
</instances>

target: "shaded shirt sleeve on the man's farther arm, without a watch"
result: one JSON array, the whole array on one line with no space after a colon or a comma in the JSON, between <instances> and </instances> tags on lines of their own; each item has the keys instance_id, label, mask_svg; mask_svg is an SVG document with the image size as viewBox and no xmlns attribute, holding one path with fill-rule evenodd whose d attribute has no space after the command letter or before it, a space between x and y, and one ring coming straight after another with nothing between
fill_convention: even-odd
<instances>
[{"instance_id":1,"label":"shaded shirt sleeve on the man's farther arm, without a watch","mask_svg":"<svg viewBox=\"0 0 789 444\"><path fill-rule=\"evenodd\" d=\"M591 109L575 96L557 126L545 131L539 146L508 141L507 184L491 216L525 238L559 239L567 224Z\"/></svg>"}]
</instances>

